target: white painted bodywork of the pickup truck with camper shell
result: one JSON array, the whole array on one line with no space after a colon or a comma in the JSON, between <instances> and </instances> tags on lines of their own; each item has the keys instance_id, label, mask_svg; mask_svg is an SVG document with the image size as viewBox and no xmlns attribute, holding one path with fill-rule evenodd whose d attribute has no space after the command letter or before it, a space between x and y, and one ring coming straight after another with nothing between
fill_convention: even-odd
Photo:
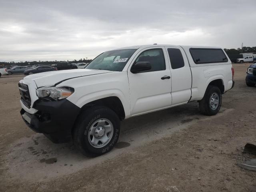
<instances>
[{"instance_id":1,"label":"white painted bodywork of the pickup truck with camper shell","mask_svg":"<svg viewBox=\"0 0 256 192\"><path fill-rule=\"evenodd\" d=\"M122 102L125 118L186 104L188 101L201 100L208 84L216 79L222 80L224 92L232 88L232 64L227 55L228 62L195 64L189 52L189 48L218 47L145 45L128 48L137 50L121 72L72 69L26 76L20 83L27 84L29 87L31 108L27 108L21 102L22 108L29 113L35 113L36 110L32 106L38 99L36 89L42 86L53 86L68 78L71 79L61 82L57 87L74 88L74 93L67 98L70 102L82 108L94 100L116 96ZM166 70L138 74L130 72L138 55L152 48L162 48ZM184 58L184 67L172 69L167 48L180 49ZM163 76L171 78L162 80Z\"/></svg>"}]
</instances>

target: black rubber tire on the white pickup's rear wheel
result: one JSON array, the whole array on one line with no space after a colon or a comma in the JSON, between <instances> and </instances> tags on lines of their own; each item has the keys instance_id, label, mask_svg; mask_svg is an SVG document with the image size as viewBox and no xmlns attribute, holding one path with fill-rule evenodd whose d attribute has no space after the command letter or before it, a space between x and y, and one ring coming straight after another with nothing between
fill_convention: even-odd
<instances>
[{"instance_id":1,"label":"black rubber tire on the white pickup's rear wheel","mask_svg":"<svg viewBox=\"0 0 256 192\"><path fill-rule=\"evenodd\" d=\"M212 97L213 94L218 95L218 105L216 105L216 108L214 109L211 108L211 101L210 101L210 98ZM212 116L212 115L216 115L219 112L221 103L222 103L222 94L220 89L217 86L210 85L207 87L202 100L199 101L199 108L202 114L207 116Z\"/></svg>"}]
</instances>

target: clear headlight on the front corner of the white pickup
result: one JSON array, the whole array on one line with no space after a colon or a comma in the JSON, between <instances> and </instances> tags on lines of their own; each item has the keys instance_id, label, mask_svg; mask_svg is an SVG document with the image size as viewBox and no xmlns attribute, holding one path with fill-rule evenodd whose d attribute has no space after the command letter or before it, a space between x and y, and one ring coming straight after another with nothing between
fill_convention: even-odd
<instances>
[{"instance_id":1,"label":"clear headlight on the front corner of the white pickup","mask_svg":"<svg viewBox=\"0 0 256 192\"><path fill-rule=\"evenodd\" d=\"M39 98L52 98L53 100L61 100L69 97L74 93L74 88L71 87L41 87L36 90L36 95Z\"/></svg>"}]
</instances>

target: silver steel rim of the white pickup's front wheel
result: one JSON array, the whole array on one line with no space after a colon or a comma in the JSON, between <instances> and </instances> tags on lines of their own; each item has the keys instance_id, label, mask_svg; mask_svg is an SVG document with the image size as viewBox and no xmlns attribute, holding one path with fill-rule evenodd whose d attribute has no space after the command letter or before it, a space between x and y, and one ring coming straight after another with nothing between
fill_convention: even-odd
<instances>
[{"instance_id":1,"label":"silver steel rim of the white pickup's front wheel","mask_svg":"<svg viewBox=\"0 0 256 192\"><path fill-rule=\"evenodd\" d=\"M102 148L106 146L114 132L113 124L108 119L99 119L92 124L88 134L88 140L91 146Z\"/></svg>"}]
</instances>

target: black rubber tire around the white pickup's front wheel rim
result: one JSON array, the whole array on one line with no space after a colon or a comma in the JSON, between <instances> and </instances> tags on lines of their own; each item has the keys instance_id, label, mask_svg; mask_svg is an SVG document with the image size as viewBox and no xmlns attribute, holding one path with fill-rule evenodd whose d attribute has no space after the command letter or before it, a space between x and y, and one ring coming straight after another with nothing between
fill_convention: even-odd
<instances>
[{"instance_id":1,"label":"black rubber tire around the white pickup's front wheel rim","mask_svg":"<svg viewBox=\"0 0 256 192\"><path fill-rule=\"evenodd\" d=\"M96 148L92 146L89 141L89 132L93 128L98 120L106 119L112 123L113 134L112 138L109 138L108 143L103 146ZM96 127L94 128L94 131ZM93 131L93 132L94 132ZM120 120L117 114L105 106L93 106L81 112L77 119L77 123L74 127L73 139L74 144L84 155L99 156L112 150L116 142L118 141L120 133ZM105 131L104 131L105 134Z\"/></svg>"}]
</instances>

